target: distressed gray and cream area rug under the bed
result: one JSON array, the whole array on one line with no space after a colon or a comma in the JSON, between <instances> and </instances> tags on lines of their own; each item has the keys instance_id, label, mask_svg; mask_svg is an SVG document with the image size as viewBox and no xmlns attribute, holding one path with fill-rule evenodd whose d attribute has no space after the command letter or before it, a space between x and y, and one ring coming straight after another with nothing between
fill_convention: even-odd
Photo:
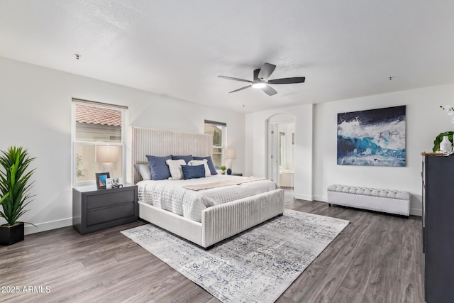
<instances>
[{"instance_id":1,"label":"distressed gray and cream area rug under the bed","mask_svg":"<svg viewBox=\"0 0 454 303\"><path fill-rule=\"evenodd\" d=\"M153 224L123 235L221 302L275 302L349 221L301 211L266 221L204 250Z\"/></svg>"}]
</instances>

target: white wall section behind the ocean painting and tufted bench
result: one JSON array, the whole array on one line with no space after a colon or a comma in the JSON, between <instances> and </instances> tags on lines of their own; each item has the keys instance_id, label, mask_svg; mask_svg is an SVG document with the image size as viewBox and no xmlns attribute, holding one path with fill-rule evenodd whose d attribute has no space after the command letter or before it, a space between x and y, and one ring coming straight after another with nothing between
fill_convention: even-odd
<instances>
[{"instance_id":1,"label":"white wall section behind the ocean painting and tufted bench","mask_svg":"<svg viewBox=\"0 0 454 303\"><path fill-rule=\"evenodd\" d=\"M411 193L411 214L421 215L421 152L454 125L439 105L454 104L454 84L348 99L314 106L314 199L326 201L330 184L400 189ZM337 114L406 105L406 167L337 165Z\"/></svg>"}]
</instances>

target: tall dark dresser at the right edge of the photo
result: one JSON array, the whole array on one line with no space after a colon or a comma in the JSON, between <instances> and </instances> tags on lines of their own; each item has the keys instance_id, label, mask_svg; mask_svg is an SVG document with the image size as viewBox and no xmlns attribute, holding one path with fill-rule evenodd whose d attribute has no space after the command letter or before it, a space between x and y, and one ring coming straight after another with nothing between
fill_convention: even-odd
<instances>
[{"instance_id":1,"label":"tall dark dresser at the right edge of the photo","mask_svg":"<svg viewBox=\"0 0 454 303\"><path fill-rule=\"evenodd\" d=\"M422 177L425 299L454 302L454 156L426 155Z\"/></svg>"}]
</instances>

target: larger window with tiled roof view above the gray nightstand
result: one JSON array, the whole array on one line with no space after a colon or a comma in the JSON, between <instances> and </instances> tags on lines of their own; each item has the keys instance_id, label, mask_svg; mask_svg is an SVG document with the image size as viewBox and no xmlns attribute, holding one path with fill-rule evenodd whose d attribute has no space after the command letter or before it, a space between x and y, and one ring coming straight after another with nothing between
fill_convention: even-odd
<instances>
[{"instance_id":1,"label":"larger window with tiled roof view above the gray nightstand","mask_svg":"<svg viewBox=\"0 0 454 303\"><path fill-rule=\"evenodd\" d=\"M72 99L74 185L94 183L96 172L124 180L127 107Z\"/></svg>"}]
</instances>

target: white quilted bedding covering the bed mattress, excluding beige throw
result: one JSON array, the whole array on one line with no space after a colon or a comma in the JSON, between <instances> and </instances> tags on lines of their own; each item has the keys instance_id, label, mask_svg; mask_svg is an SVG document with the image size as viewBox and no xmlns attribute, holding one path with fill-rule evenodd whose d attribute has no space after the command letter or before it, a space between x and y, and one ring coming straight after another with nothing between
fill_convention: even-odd
<instances>
[{"instance_id":1,"label":"white quilted bedding covering the bed mattress, excluding beige throw","mask_svg":"<svg viewBox=\"0 0 454 303\"><path fill-rule=\"evenodd\" d=\"M241 179L240 176L213 175L189 180L144 180L138 182L138 199L187 219L201 222L201 211L209 206L255 196L276 189L275 182L260 180L239 185L194 191L183 185Z\"/></svg>"}]
</instances>

